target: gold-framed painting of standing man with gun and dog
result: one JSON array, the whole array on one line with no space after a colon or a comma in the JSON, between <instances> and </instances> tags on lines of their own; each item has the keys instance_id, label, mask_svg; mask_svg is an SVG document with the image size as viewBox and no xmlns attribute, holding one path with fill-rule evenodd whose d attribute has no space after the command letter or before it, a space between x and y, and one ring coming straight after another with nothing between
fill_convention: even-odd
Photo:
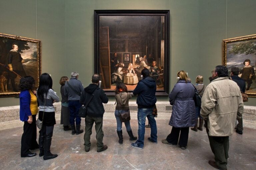
<instances>
[{"instance_id":1,"label":"gold-framed painting of standing man with gun and dog","mask_svg":"<svg viewBox=\"0 0 256 170\"><path fill-rule=\"evenodd\" d=\"M24 76L35 79L36 90L41 75L41 41L0 33L0 97L18 96Z\"/></svg>"}]
</instances>

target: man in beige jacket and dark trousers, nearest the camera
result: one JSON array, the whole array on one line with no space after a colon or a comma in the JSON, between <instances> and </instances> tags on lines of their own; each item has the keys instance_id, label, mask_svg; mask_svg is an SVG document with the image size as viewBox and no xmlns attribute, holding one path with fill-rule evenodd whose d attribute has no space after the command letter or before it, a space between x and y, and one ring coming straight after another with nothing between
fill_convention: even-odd
<instances>
[{"instance_id":1,"label":"man in beige jacket and dark trousers, nearest the camera","mask_svg":"<svg viewBox=\"0 0 256 170\"><path fill-rule=\"evenodd\" d=\"M236 119L243 113L243 99L236 82L229 80L228 69L216 66L212 80L206 87L201 104L201 116L207 124L207 134L215 161L208 163L227 169L229 136L234 132Z\"/></svg>"}]
</instances>

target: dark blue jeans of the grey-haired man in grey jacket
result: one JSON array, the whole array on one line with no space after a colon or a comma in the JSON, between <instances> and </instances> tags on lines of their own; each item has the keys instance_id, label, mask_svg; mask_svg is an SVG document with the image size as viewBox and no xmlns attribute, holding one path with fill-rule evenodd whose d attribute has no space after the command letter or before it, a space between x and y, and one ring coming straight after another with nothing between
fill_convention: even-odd
<instances>
[{"instance_id":1,"label":"dark blue jeans of the grey-haired man in grey jacket","mask_svg":"<svg viewBox=\"0 0 256 170\"><path fill-rule=\"evenodd\" d=\"M68 101L68 107L70 111L70 117L69 117L69 123L70 125L75 124L75 119L76 119L76 124L81 124L81 118L78 115L78 111L82 105L80 104L79 100L77 101Z\"/></svg>"}]
</instances>

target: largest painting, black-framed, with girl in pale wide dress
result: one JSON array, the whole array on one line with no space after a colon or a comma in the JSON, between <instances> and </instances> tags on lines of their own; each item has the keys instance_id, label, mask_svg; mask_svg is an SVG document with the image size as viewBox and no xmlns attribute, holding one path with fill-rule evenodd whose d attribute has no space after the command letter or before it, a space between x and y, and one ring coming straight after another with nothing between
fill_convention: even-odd
<instances>
[{"instance_id":1,"label":"largest painting, black-framed, with girl in pale wide dress","mask_svg":"<svg viewBox=\"0 0 256 170\"><path fill-rule=\"evenodd\" d=\"M95 10L94 72L114 95L122 81L132 92L141 70L150 70L157 95L169 93L169 10Z\"/></svg>"}]
</instances>

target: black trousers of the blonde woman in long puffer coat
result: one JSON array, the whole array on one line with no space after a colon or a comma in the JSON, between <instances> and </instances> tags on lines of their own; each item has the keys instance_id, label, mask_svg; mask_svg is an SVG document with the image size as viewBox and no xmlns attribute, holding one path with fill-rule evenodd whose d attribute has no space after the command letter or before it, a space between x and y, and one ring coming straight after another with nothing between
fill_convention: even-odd
<instances>
[{"instance_id":1,"label":"black trousers of the blonde woman in long puffer coat","mask_svg":"<svg viewBox=\"0 0 256 170\"><path fill-rule=\"evenodd\" d=\"M189 127L185 128L176 128L172 127L171 133L167 136L166 140L174 145L178 144L179 140L179 145L180 146L187 146L188 144L188 133L189 133Z\"/></svg>"}]
</instances>

